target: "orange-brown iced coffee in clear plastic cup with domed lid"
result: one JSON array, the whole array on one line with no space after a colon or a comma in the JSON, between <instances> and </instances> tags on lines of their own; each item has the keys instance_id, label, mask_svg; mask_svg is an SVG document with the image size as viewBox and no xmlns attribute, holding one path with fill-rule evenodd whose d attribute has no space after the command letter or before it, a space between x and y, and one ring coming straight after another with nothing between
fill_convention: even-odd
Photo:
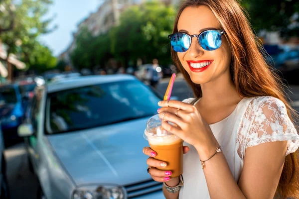
<instances>
[{"instance_id":1,"label":"orange-brown iced coffee in clear plastic cup with domed lid","mask_svg":"<svg viewBox=\"0 0 299 199\"><path fill-rule=\"evenodd\" d=\"M161 123L158 115L149 118L144 137L149 141L150 148L157 153L154 159L167 163L167 167L157 169L171 171L170 178L176 178L183 173L183 140L162 129Z\"/></svg>"}]
</instances>

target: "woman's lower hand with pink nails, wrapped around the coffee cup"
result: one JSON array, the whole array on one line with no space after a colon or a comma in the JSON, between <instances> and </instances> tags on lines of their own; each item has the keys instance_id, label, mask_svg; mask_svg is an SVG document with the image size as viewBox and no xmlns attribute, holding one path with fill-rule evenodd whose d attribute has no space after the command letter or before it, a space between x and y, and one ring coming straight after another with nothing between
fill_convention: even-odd
<instances>
[{"instance_id":1,"label":"woman's lower hand with pink nails, wrapped around the coffee cup","mask_svg":"<svg viewBox=\"0 0 299 199\"><path fill-rule=\"evenodd\" d=\"M183 150L184 150L184 154L185 154L189 151L189 147L184 146ZM177 181L178 177L170 179L171 174L172 174L171 171L163 171L163 170L156 169L156 167L166 167L167 164L163 161L156 160L153 158L156 156L155 151L151 150L151 148L149 148L149 147L145 147L143 149L143 152L144 152L144 154L149 156L149 158L147 160L147 164L149 165L149 168L150 168L149 174L154 181L161 182L161 183L167 182L167 181L169 181L169 183L171 181Z\"/></svg>"}]
</instances>

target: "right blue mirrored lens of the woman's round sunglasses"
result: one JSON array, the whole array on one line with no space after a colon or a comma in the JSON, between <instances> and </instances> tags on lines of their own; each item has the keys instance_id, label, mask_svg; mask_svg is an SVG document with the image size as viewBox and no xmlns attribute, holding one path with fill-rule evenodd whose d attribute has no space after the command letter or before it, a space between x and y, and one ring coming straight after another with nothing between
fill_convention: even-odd
<instances>
[{"instance_id":1,"label":"right blue mirrored lens of the woman's round sunglasses","mask_svg":"<svg viewBox=\"0 0 299 199\"><path fill-rule=\"evenodd\" d=\"M221 46L221 34L215 30L203 32L199 39L201 47L205 50L216 50Z\"/></svg>"}]
</instances>

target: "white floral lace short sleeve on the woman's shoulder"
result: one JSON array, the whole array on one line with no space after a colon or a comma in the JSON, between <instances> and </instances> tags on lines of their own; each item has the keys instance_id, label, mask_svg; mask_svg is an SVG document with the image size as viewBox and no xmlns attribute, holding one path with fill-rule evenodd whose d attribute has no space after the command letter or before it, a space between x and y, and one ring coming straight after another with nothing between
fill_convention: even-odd
<instances>
[{"instance_id":1,"label":"white floral lace short sleeve on the woman's shoulder","mask_svg":"<svg viewBox=\"0 0 299 199\"><path fill-rule=\"evenodd\" d=\"M253 100L251 105L254 110L251 117L246 118L245 115L244 118L249 125L247 135L243 136L243 152L248 147L275 141L288 141L286 155L295 152L299 147L299 135L285 104L274 97L260 97Z\"/></svg>"}]
</instances>

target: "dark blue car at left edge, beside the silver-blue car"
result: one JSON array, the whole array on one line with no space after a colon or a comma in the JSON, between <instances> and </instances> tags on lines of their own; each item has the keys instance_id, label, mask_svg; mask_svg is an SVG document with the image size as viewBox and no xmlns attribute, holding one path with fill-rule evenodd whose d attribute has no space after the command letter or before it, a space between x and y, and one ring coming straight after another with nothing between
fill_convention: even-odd
<instances>
[{"instance_id":1,"label":"dark blue car at left edge, beside the silver-blue car","mask_svg":"<svg viewBox=\"0 0 299 199\"><path fill-rule=\"evenodd\" d=\"M17 84L0 85L0 118L5 146L20 139L17 128L24 115L23 105Z\"/></svg>"}]
</instances>

